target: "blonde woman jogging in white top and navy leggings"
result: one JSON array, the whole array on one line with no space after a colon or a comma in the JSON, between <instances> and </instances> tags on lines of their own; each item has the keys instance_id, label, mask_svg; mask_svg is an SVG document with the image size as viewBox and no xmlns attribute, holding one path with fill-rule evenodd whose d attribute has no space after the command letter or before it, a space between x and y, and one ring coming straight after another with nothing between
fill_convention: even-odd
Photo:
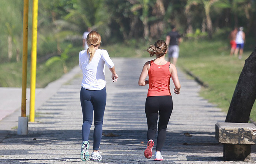
<instances>
[{"instance_id":1,"label":"blonde woman jogging in white top and navy leggings","mask_svg":"<svg viewBox=\"0 0 256 164\"><path fill-rule=\"evenodd\" d=\"M112 73L112 81L116 82L114 63L109 57L108 51L98 49L101 43L101 35L97 31L89 32L86 42L89 46L87 50L79 53L79 66L83 72L82 87L80 90L80 102L83 112L82 125L82 148L80 157L83 161L89 160L89 133L93 123L94 113L94 133L93 152L91 160L100 161L99 144L102 136L103 116L106 106L106 81L105 65Z\"/></svg>"}]
</instances>

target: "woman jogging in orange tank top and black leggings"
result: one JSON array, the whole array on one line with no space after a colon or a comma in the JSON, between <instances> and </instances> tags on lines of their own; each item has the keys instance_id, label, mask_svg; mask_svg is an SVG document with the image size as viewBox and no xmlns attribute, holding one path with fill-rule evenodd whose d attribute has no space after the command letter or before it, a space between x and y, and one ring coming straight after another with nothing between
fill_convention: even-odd
<instances>
[{"instance_id":1,"label":"woman jogging in orange tank top and black leggings","mask_svg":"<svg viewBox=\"0 0 256 164\"><path fill-rule=\"evenodd\" d=\"M177 75L177 69L172 64L165 60L167 45L163 40L157 40L154 45L147 48L150 56L156 55L156 59L148 61L144 64L142 73L139 78L139 85L149 85L147 99L145 103L145 113L147 117L147 148L144 151L146 158L152 157L152 149L154 146L154 138L158 136L157 147L154 160L163 160L161 149L166 138L166 128L172 114L173 102L170 92L170 78L174 83L174 93L180 94L180 81ZM145 80L148 75L148 80Z\"/></svg>"}]
</instances>

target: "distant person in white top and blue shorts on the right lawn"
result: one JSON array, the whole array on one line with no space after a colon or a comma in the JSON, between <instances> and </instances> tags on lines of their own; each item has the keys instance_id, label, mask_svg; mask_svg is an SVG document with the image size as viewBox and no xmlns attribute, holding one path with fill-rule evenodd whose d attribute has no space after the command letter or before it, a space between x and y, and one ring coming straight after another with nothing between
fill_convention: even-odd
<instances>
[{"instance_id":1,"label":"distant person in white top and blue shorts on the right lawn","mask_svg":"<svg viewBox=\"0 0 256 164\"><path fill-rule=\"evenodd\" d=\"M234 54L235 54L235 56L237 56L238 51L240 49L239 56L238 56L239 59L242 59L242 54L244 52L245 33L243 32L243 30L244 30L244 28L240 27L239 31L237 32L237 35L236 35L237 47L236 47Z\"/></svg>"}]
</instances>

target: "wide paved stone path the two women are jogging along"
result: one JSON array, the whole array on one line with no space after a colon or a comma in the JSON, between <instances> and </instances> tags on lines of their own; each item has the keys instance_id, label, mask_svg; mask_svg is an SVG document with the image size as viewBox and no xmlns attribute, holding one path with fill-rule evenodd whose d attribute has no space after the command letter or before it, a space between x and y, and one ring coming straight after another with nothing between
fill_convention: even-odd
<instances>
[{"instance_id":1,"label":"wide paved stone path the two women are jogging along","mask_svg":"<svg viewBox=\"0 0 256 164\"><path fill-rule=\"evenodd\" d=\"M144 103L147 87L138 86L137 82L147 59L118 58L113 61L119 78L117 83L111 82L110 72L106 70L108 98L100 146L103 160L86 163L244 163L222 160L223 148L214 136L215 123L223 122L225 113L199 97L200 86L181 71L178 71L178 75L182 89L180 95L173 94L174 109L162 149L164 161L145 159L143 152L147 142L147 124ZM0 142L1 164L85 163L80 160L79 155L82 142L80 83L81 73L58 88L57 92L37 109L36 122L29 123L28 135L18 136L14 130ZM184 133L191 136L185 136ZM91 131L90 138L93 137L92 134ZM90 144L92 148L93 142ZM254 146L251 156L255 161ZM255 163L253 161L248 164Z\"/></svg>"}]
</instances>

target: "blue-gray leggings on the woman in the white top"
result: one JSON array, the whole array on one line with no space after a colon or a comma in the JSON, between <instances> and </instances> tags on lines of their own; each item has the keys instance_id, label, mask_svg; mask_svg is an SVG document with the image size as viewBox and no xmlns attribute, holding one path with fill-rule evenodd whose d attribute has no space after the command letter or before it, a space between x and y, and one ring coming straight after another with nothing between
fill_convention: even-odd
<instances>
[{"instance_id":1,"label":"blue-gray leggings on the woman in the white top","mask_svg":"<svg viewBox=\"0 0 256 164\"><path fill-rule=\"evenodd\" d=\"M83 112L82 138L83 141L89 140L94 113L93 150L96 151L99 149L101 142L106 97L106 88L102 90L88 90L82 87L80 90L80 102Z\"/></svg>"}]
</instances>

